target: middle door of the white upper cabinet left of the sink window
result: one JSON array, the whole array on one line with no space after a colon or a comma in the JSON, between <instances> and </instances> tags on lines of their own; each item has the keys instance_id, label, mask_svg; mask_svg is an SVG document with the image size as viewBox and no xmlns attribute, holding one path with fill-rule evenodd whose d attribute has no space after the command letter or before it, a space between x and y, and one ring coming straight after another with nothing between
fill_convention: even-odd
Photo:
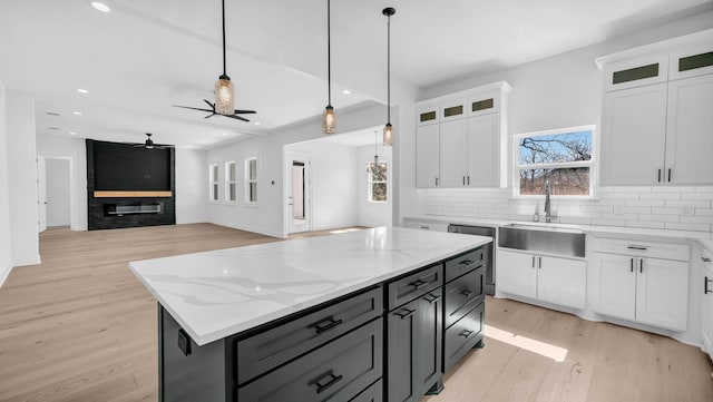
<instances>
[{"instance_id":1,"label":"middle door of the white upper cabinet left of the sink window","mask_svg":"<svg viewBox=\"0 0 713 402\"><path fill-rule=\"evenodd\" d=\"M440 187L466 185L466 119L441 122Z\"/></svg>"}]
</instances>

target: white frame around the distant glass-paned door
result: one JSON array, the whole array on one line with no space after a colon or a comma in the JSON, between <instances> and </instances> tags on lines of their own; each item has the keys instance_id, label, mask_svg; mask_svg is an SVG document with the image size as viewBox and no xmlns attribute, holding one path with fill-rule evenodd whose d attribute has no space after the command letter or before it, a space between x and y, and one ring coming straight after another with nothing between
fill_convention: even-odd
<instances>
[{"instance_id":1,"label":"white frame around the distant glass-paned door","mask_svg":"<svg viewBox=\"0 0 713 402\"><path fill-rule=\"evenodd\" d=\"M304 215L305 215L305 224L295 229L293 225L292 218L292 203L291 203L291 194L292 194L292 166L294 161L304 164ZM284 237L292 233L300 232L312 232L313 228L313 214L312 214L312 161L310 154L305 153L296 153L296 151L285 151L284 157L284 219L283 219L283 234Z\"/></svg>"}]
</instances>

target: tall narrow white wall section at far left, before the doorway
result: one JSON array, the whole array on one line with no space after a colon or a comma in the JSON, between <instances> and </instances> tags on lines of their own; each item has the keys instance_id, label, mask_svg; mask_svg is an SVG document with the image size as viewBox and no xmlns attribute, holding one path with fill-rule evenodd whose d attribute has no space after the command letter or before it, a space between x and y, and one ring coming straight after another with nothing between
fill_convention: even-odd
<instances>
[{"instance_id":1,"label":"tall narrow white wall section at far left, before the doorway","mask_svg":"<svg viewBox=\"0 0 713 402\"><path fill-rule=\"evenodd\" d=\"M7 91L12 265L39 264L35 100Z\"/></svg>"}]
</instances>

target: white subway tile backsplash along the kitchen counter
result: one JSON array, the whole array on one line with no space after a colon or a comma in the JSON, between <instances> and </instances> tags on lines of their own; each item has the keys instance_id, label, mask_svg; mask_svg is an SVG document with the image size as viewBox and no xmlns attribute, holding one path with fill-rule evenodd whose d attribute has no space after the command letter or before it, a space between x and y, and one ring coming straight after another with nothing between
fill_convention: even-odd
<instances>
[{"instance_id":1,"label":"white subway tile backsplash along the kitchen counter","mask_svg":"<svg viewBox=\"0 0 713 402\"><path fill-rule=\"evenodd\" d=\"M557 222L713 232L713 186L602 187L595 192L598 198L553 198ZM428 215L531 220L538 210L544 219L545 197L512 198L510 189L432 189L426 195Z\"/></svg>"}]
</instances>

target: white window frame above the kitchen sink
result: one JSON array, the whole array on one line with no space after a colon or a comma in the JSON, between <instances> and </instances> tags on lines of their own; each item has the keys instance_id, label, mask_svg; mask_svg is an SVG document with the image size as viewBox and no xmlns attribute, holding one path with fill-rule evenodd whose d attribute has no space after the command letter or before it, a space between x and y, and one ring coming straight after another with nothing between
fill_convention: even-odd
<instances>
[{"instance_id":1,"label":"white window frame above the kitchen sink","mask_svg":"<svg viewBox=\"0 0 713 402\"><path fill-rule=\"evenodd\" d=\"M543 195L521 195L520 194L520 170L521 169L558 169L558 168L568 168L568 167L588 167L589 168L589 195L555 195L553 194L553 198L559 199L592 199L595 198L595 178L596 178L596 167L597 157L598 157L598 137L596 125L586 125L586 126L576 126L576 127L566 127L566 128L556 128L551 130L543 130L543 131L533 131L533 133L521 133L512 136L512 197L514 198L541 198ZM566 163L553 163L553 164L526 164L520 165L518 161L520 160L520 139L526 137L539 137L539 136L551 136L557 134L566 134L566 133L577 133L577 131L592 131L592 158L589 160L576 160L576 161L566 161Z\"/></svg>"}]
</instances>

